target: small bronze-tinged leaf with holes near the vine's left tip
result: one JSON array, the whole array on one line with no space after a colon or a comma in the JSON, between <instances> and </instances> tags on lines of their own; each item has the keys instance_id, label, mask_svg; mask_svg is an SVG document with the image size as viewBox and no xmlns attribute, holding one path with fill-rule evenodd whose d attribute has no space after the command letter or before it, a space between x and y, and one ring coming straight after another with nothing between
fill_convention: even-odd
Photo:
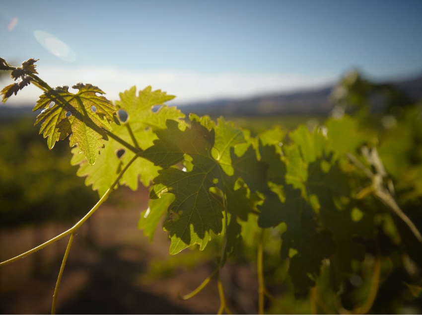
<instances>
[{"instance_id":1,"label":"small bronze-tinged leaf with holes near the vine's left tip","mask_svg":"<svg viewBox=\"0 0 422 315\"><path fill-rule=\"evenodd\" d=\"M43 109L35 124L41 123L40 134L48 138L49 149L71 134L70 147L77 144L79 152L94 164L104 145L102 140L107 140L105 130L112 130L115 106L96 94L104 93L96 86L78 83L72 87L78 89L76 94L70 93L68 86L61 86L41 95L33 109Z\"/></svg>"}]
</instances>

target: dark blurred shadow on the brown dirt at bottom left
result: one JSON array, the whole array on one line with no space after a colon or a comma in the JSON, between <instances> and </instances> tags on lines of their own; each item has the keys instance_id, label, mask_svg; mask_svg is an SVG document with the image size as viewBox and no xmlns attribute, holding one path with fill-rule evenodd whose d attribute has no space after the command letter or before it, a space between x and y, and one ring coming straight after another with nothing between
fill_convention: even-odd
<instances>
[{"instance_id":1,"label":"dark blurred shadow on the brown dirt at bottom left","mask_svg":"<svg viewBox=\"0 0 422 315\"><path fill-rule=\"evenodd\" d=\"M192 314L164 296L151 294L137 285L145 266L120 258L120 249L103 249L100 265L67 266L70 273L72 269L83 268L88 279L57 309L58 314Z\"/></svg>"}]
</instances>

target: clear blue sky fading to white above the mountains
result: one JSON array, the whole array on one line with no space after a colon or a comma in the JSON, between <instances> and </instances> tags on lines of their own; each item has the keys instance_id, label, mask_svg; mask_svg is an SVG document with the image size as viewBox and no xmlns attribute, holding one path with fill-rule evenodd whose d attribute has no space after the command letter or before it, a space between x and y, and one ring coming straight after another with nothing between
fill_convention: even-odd
<instances>
[{"instance_id":1,"label":"clear blue sky fading to white above the mountains","mask_svg":"<svg viewBox=\"0 0 422 315\"><path fill-rule=\"evenodd\" d=\"M50 85L152 85L172 104L422 73L421 0L1 0L0 57ZM3 80L1 86L6 83ZM25 88L16 101L35 102Z\"/></svg>"}]
</instances>

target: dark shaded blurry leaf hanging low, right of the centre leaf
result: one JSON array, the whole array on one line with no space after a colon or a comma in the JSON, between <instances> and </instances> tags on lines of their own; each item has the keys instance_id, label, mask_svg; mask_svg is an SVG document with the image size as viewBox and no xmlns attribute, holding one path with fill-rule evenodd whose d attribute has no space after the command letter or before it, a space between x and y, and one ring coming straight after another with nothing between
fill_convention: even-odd
<instances>
[{"instance_id":1,"label":"dark shaded blurry leaf hanging low, right of the centre leaf","mask_svg":"<svg viewBox=\"0 0 422 315\"><path fill-rule=\"evenodd\" d=\"M286 224L287 229L281 235L281 258L290 258L289 274L295 293L301 295L315 284L322 260L333 254L334 244L328 231L317 224L316 215L301 190L285 185L284 194L282 202L276 193L266 192L265 202L259 207L258 224L263 228Z\"/></svg>"}]
</instances>

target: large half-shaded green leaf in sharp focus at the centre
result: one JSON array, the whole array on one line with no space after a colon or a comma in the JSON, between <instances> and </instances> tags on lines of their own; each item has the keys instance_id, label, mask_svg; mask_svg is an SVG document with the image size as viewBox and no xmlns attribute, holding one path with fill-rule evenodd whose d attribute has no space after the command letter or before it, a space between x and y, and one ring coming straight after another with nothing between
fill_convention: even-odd
<instances>
[{"instance_id":1,"label":"large half-shaded green leaf in sharp focus at the centre","mask_svg":"<svg viewBox=\"0 0 422 315\"><path fill-rule=\"evenodd\" d=\"M164 223L170 232L171 254L193 244L204 249L211 239L210 231L221 233L225 209L231 214L227 233L240 236L236 218L246 220L247 211L255 202L247 195L248 189L253 192L265 183L262 170L266 166L257 161L252 147L240 157L234 153L236 146L245 142L240 129L222 119L217 125L207 117L191 115L190 119L191 126L185 130L167 121L167 129L157 132L154 146L143 155L164 168L154 179L151 198L167 192L175 195L168 209L169 218ZM186 159L186 155L192 163L190 171L171 167ZM253 170L248 176L247 168ZM243 185L235 189L238 180ZM231 252L233 245L229 244L227 250Z\"/></svg>"}]
</instances>

